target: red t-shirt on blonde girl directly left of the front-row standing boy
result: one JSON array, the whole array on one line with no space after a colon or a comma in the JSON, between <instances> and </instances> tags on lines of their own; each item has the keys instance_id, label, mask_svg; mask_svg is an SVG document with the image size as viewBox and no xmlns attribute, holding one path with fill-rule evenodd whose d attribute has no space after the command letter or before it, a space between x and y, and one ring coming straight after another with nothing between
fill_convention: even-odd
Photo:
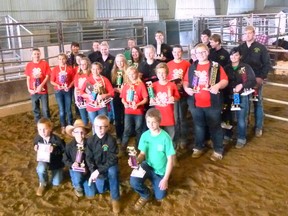
<instances>
[{"instance_id":1,"label":"red t-shirt on blonde girl directly left of the front-row standing boy","mask_svg":"<svg viewBox=\"0 0 288 216\"><path fill-rule=\"evenodd\" d=\"M146 86L143 82L139 82L138 84L128 84L126 83L123 86L123 89L121 91L120 97L124 98L124 100L127 102L127 97L129 97L129 89L130 87L133 87L134 89L134 97L133 101L129 103L139 103L144 98L148 98L148 92L146 89ZM131 107L125 108L125 114L131 114L131 115L143 115L144 114L144 105L137 107L137 109L132 109Z\"/></svg>"}]
</instances>

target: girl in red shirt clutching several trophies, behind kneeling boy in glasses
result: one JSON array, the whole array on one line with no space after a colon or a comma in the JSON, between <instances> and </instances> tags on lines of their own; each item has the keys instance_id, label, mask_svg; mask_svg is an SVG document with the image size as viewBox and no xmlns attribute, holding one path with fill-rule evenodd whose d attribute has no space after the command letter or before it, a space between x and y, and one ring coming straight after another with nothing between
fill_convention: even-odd
<instances>
[{"instance_id":1,"label":"girl in red shirt clutching several trophies, behind kneeling boy in glasses","mask_svg":"<svg viewBox=\"0 0 288 216\"><path fill-rule=\"evenodd\" d=\"M99 62L91 65L91 74L81 88L81 95L86 99L86 110L93 124L96 116L107 115L107 104L114 96L114 89L105 76L102 76L103 66Z\"/></svg>"}]
</instances>

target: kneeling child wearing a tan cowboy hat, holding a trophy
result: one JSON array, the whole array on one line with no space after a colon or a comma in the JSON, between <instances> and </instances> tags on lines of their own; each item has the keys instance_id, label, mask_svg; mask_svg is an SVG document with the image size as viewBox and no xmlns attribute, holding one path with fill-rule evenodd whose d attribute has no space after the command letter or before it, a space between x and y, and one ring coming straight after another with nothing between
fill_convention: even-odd
<instances>
[{"instance_id":1,"label":"kneeling child wearing a tan cowboy hat, holding a trophy","mask_svg":"<svg viewBox=\"0 0 288 216\"><path fill-rule=\"evenodd\" d=\"M69 167L69 173L77 197L82 197L84 181L88 179L88 168L85 161L85 148L87 139L85 138L89 129L81 119L77 119L72 125L66 127L66 133L74 139L66 145L63 155L63 162ZM88 192L85 191L87 195Z\"/></svg>"}]
</instances>

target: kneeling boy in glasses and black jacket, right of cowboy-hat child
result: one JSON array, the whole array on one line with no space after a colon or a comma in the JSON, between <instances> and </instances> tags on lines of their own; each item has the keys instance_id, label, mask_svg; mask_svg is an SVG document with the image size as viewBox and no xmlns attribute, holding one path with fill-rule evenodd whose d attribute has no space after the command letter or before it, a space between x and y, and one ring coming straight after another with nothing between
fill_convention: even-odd
<instances>
[{"instance_id":1,"label":"kneeling boy in glasses and black jacket, right of cowboy-hat child","mask_svg":"<svg viewBox=\"0 0 288 216\"><path fill-rule=\"evenodd\" d=\"M108 134L109 118L98 115L94 120L95 134L88 138L86 160L91 172L89 184L95 184L99 193L108 188L114 213L120 212L118 147L115 138Z\"/></svg>"}]
</instances>

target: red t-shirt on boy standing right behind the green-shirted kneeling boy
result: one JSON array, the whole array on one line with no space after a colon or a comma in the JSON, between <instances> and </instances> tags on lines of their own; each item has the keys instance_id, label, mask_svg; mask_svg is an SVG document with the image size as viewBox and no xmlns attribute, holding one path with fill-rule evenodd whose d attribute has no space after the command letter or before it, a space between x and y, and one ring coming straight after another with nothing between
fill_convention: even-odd
<instances>
[{"instance_id":1,"label":"red t-shirt on boy standing right behind the green-shirted kneeling boy","mask_svg":"<svg viewBox=\"0 0 288 216\"><path fill-rule=\"evenodd\" d=\"M180 94L177 86L173 82L168 82L166 85L161 85L159 81L153 83L153 90L155 93L155 100L160 102L161 106L156 105L155 108L161 113L162 119L160 126L173 126L175 125L174 119L174 104L167 104L169 94L175 100L179 100Z\"/></svg>"}]
</instances>

